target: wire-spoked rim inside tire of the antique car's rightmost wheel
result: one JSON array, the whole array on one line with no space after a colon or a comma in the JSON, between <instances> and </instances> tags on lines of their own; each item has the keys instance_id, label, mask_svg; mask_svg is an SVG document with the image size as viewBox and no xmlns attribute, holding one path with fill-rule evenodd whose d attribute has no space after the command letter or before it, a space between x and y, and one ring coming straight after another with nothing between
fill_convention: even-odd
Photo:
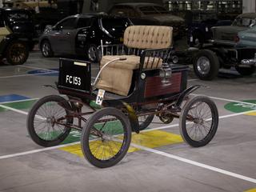
<instances>
[{"instance_id":1,"label":"wire-spoked rim inside tire of the antique car's rightmost wheel","mask_svg":"<svg viewBox=\"0 0 256 192\"><path fill-rule=\"evenodd\" d=\"M206 102L195 102L187 113L188 136L197 142L205 140L213 129L213 118L213 111Z\"/></svg>"}]
</instances>

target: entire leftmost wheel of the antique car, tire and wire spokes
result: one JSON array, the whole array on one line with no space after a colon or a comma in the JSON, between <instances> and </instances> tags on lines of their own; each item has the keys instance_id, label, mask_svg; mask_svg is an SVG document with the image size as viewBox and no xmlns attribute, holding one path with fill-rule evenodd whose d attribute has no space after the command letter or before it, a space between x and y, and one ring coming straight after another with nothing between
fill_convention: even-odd
<instances>
[{"instance_id":1,"label":"entire leftmost wheel of the antique car, tire and wire spokes","mask_svg":"<svg viewBox=\"0 0 256 192\"><path fill-rule=\"evenodd\" d=\"M69 124L73 123L70 104L65 98L50 95L34 104L27 118L30 137L39 146L57 146L70 133Z\"/></svg>"}]
</instances>

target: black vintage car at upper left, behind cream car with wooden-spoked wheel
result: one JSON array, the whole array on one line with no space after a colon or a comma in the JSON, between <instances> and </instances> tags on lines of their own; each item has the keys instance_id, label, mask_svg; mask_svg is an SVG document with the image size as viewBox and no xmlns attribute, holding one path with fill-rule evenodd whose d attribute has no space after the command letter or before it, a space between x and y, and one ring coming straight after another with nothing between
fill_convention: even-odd
<instances>
[{"instance_id":1,"label":"black vintage car at upper left, behind cream car with wooden-spoked wheel","mask_svg":"<svg viewBox=\"0 0 256 192\"><path fill-rule=\"evenodd\" d=\"M11 33L26 41L29 49L33 50L34 44L38 41L38 35L34 28L30 10L0 8L0 15L1 22L5 23Z\"/></svg>"}]
</instances>

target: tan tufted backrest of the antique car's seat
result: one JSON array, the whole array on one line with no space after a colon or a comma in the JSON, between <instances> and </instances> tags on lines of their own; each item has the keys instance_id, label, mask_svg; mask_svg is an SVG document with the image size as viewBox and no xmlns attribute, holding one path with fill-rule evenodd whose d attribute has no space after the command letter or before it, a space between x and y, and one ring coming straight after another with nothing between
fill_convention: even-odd
<instances>
[{"instance_id":1,"label":"tan tufted backrest of the antique car's seat","mask_svg":"<svg viewBox=\"0 0 256 192\"><path fill-rule=\"evenodd\" d=\"M166 49L172 46L171 26L128 26L124 45L136 49Z\"/></svg>"}]
</instances>

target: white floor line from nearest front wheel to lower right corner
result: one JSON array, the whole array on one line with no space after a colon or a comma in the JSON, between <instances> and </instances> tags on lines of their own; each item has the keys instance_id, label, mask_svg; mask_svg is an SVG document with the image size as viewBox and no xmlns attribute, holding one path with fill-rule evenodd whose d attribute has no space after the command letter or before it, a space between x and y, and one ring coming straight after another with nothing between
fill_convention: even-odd
<instances>
[{"instance_id":1,"label":"white floor line from nearest front wheel to lower right corner","mask_svg":"<svg viewBox=\"0 0 256 192\"><path fill-rule=\"evenodd\" d=\"M145 147L145 146L139 146L139 145L136 145L134 143L131 143L130 146L134 146L136 148L139 148L139 149L142 149L142 150L146 150L146 151L149 151L151 153L154 153L154 154L160 154L162 156L165 156L166 158L173 158L175 160L178 160L180 162L186 162L190 165L193 165L193 166L199 166L199 167L202 167L203 169L206 169L206 170L213 170L215 172L218 172L220 174L226 174L230 177L233 177L233 178L239 178L239 179L242 179L246 182L253 182L253 183L256 183L256 179L255 178L249 178L249 177L246 177L242 174L235 174L233 172L230 172L228 170L222 170L222 169L219 169L217 167L214 167L214 166L208 166L206 164L203 164L201 162L195 162L195 161L192 161L190 159L187 159L187 158L181 158L177 155L174 155L174 154L167 154L165 152L162 152L162 151L159 151L159 150L154 150L154 149L151 149L151 148L148 148L148 147Z\"/></svg>"}]
</instances>

